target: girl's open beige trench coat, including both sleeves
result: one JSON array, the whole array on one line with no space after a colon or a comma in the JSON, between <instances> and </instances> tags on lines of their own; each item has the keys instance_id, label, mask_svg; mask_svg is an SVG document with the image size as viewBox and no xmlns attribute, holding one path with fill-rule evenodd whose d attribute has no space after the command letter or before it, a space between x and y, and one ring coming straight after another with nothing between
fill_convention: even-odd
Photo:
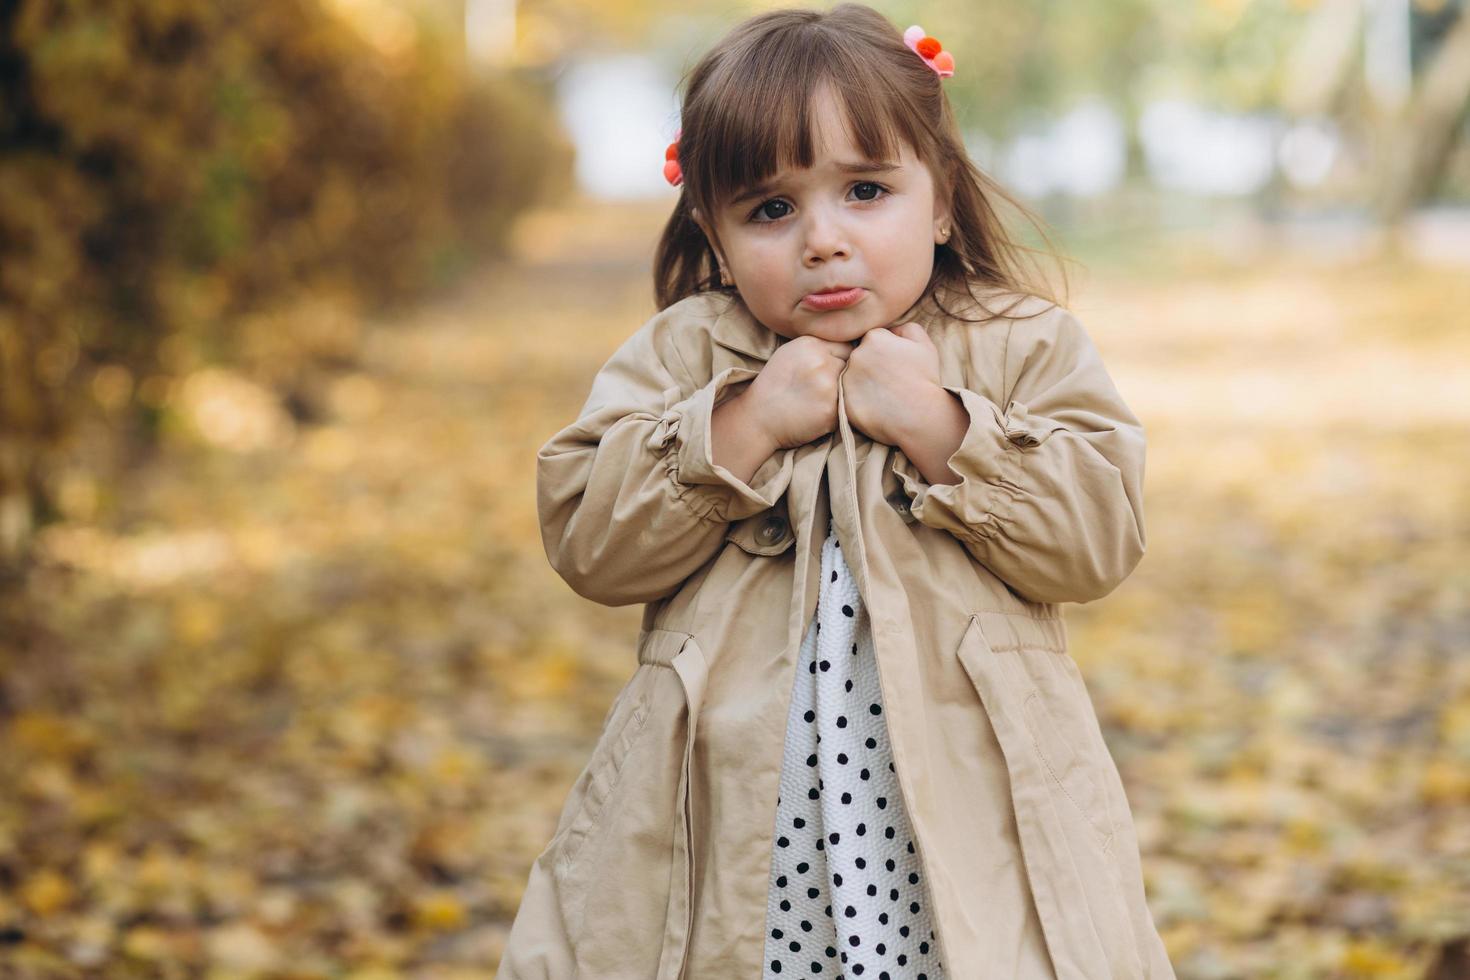
<instances>
[{"instance_id":1,"label":"girl's open beige trench coat, including both sleeves","mask_svg":"<svg viewBox=\"0 0 1470 980\"><path fill-rule=\"evenodd\" d=\"M623 342L539 450L553 567L588 599L647 605L638 666L531 868L500 980L759 980L829 513L870 616L947 977L1175 976L1058 613L1144 554L1142 426L1063 307L1026 297L967 323L926 303L910 319L970 414L950 458L960 483L929 485L854 430L841 382L838 432L748 485L716 466L711 410L785 338L713 292Z\"/></svg>"}]
</instances>

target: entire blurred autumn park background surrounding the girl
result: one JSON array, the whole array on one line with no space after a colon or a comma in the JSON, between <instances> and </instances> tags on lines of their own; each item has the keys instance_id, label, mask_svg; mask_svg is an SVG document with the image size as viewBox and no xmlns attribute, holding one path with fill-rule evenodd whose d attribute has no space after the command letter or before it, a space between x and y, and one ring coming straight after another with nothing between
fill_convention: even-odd
<instances>
[{"instance_id":1,"label":"entire blurred autumn park background surrounding the girl","mask_svg":"<svg viewBox=\"0 0 1470 980\"><path fill-rule=\"evenodd\" d=\"M635 667L535 450L763 6L0 3L0 976L491 976ZM1470 4L875 6L1150 436L1066 613L1179 976L1470 977Z\"/></svg>"}]
</instances>

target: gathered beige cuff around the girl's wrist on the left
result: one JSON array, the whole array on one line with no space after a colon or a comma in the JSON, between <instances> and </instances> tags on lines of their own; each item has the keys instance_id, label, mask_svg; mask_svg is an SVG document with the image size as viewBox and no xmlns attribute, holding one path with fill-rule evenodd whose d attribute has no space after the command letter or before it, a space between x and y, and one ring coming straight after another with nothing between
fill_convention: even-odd
<instances>
[{"instance_id":1,"label":"gathered beige cuff around the girl's wrist on the left","mask_svg":"<svg viewBox=\"0 0 1470 980\"><path fill-rule=\"evenodd\" d=\"M704 520L729 523L776 505L791 483L792 454L778 451L745 483L714 461L710 422L714 408L739 394L731 391L759 375L750 367L726 367L688 398L676 401L678 388L664 392L664 410L648 436L663 454L663 467L675 495Z\"/></svg>"}]
</instances>

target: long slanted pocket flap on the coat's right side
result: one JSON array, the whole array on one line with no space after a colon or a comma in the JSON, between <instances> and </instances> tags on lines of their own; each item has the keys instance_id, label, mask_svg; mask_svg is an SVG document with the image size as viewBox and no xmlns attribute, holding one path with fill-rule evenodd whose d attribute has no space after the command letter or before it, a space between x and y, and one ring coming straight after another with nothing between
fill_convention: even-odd
<instances>
[{"instance_id":1,"label":"long slanted pocket flap on the coat's right side","mask_svg":"<svg viewBox=\"0 0 1470 980\"><path fill-rule=\"evenodd\" d=\"M1080 729L1048 707L1053 698L1064 704L1057 692L1067 691L1055 686L1064 671L1048 658L1067 654L1032 621L1008 623L1020 639L992 646L982 616L992 614L970 617L958 658L1005 760L1026 880L1057 976L1142 977L1100 773L1079 749Z\"/></svg>"}]
</instances>

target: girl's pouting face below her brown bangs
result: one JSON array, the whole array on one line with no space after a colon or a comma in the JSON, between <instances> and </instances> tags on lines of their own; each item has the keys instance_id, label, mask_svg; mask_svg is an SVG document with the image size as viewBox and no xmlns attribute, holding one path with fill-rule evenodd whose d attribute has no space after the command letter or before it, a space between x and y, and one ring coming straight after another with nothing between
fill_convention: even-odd
<instances>
[{"instance_id":1,"label":"girl's pouting face below her brown bangs","mask_svg":"<svg viewBox=\"0 0 1470 980\"><path fill-rule=\"evenodd\" d=\"M900 141L898 160L867 160L829 88L813 110L811 167L726 201L714 228L726 282L757 320L786 338L856 341L895 326L923 294L950 213L911 147ZM848 292L813 297L836 288Z\"/></svg>"}]
</instances>

